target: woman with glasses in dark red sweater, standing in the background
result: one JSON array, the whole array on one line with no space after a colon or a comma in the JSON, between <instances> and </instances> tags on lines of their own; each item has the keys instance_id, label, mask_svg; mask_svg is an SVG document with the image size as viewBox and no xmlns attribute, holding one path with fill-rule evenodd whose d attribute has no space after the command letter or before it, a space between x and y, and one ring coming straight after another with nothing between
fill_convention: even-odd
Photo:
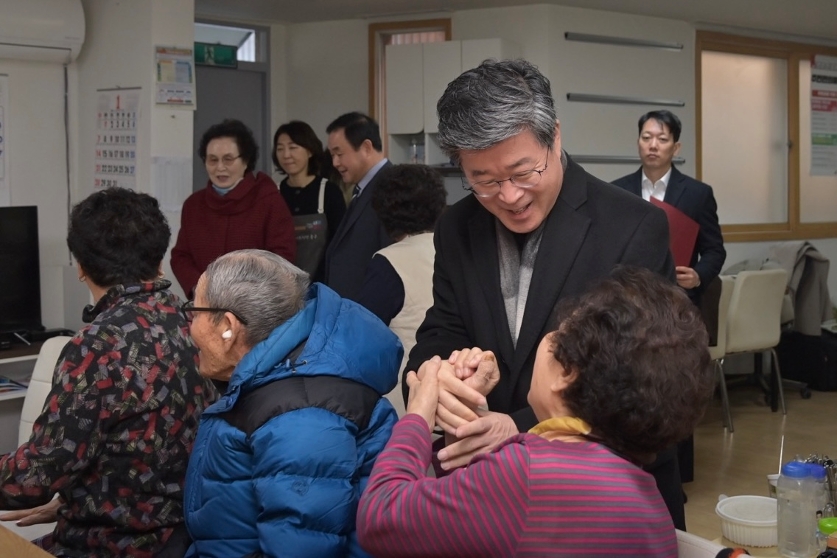
<instances>
[{"instance_id":1,"label":"woman with glasses in dark red sweater, standing in the background","mask_svg":"<svg viewBox=\"0 0 837 558\"><path fill-rule=\"evenodd\" d=\"M258 248L294 263L293 219L273 179L253 171L259 157L253 132L238 120L224 120L203 134L198 154L209 183L183 203L171 251L171 268L186 296L194 296L206 266L227 252Z\"/></svg>"}]
</instances>

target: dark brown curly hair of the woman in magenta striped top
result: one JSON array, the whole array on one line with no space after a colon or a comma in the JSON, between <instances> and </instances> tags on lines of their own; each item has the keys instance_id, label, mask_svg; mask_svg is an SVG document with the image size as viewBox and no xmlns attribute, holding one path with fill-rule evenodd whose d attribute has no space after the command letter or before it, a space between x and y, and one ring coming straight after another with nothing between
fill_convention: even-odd
<instances>
[{"instance_id":1,"label":"dark brown curly hair of the woman in magenta striped top","mask_svg":"<svg viewBox=\"0 0 837 558\"><path fill-rule=\"evenodd\" d=\"M708 335L685 292L646 269L619 266L561 306L552 354L576 377L561 398L591 436L648 463L688 437L715 387Z\"/></svg>"}]
</instances>

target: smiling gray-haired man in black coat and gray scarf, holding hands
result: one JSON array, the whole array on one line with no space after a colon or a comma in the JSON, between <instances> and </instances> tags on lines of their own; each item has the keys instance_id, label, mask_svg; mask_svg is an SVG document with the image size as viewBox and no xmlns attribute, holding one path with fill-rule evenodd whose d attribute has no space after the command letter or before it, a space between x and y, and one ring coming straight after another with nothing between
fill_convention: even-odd
<instances>
[{"instance_id":1,"label":"smiling gray-haired man in black coat and gray scarf, holding hands","mask_svg":"<svg viewBox=\"0 0 837 558\"><path fill-rule=\"evenodd\" d=\"M434 355L479 347L494 352L500 375L487 395L489 410L470 414L446 403L451 394L462 396L462 380L440 375L439 416L456 419L440 425L459 441L438 458L451 469L535 426L527 402L532 368L538 343L556 328L562 299L578 296L617 264L672 281L674 265L665 213L587 174L562 150L549 80L532 64L486 61L451 82L437 110L439 144L460 164L463 186L474 195L448 209L436 227L433 306L405 374L417 370L421 378ZM452 360L479 367L473 359ZM664 453L649 471L683 528L676 456L673 449Z\"/></svg>"}]
</instances>

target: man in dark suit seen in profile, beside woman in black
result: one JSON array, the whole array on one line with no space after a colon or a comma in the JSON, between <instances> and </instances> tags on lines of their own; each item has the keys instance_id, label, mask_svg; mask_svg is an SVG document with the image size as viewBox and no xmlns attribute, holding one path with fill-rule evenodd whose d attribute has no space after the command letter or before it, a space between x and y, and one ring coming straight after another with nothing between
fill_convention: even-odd
<instances>
[{"instance_id":1,"label":"man in dark suit seen in profile, beside woman in black","mask_svg":"<svg viewBox=\"0 0 837 558\"><path fill-rule=\"evenodd\" d=\"M328 125L328 151L343 182L354 184L346 215L325 255L325 284L355 300L372 255L392 243L369 200L378 172L390 163L384 157L378 123L350 112Z\"/></svg>"}]
</instances>

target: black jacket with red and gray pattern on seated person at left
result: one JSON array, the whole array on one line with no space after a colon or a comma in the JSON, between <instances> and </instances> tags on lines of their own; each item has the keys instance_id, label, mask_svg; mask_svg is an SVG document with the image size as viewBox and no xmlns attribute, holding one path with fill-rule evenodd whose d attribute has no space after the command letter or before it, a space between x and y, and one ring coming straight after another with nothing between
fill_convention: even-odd
<instances>
[{"instance_id":1,"label":"black jacket with red and gray pattern on seated person at left","mask_svg":"<svg viewBox=\"0 0 837 558\"><path fill-rule=\"evenodd\" d=\"M53 554L150 557L183 522L189 454L217 393L170 285L114 287L87 312L32 437L0 458L0 508L60 494Z\"/></svg>"}]
</instances>

